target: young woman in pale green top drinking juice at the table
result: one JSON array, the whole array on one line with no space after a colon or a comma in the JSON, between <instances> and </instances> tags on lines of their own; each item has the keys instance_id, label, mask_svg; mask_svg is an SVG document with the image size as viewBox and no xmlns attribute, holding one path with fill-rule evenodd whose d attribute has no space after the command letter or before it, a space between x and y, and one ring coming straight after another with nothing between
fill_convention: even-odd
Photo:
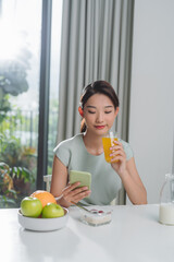
<instances>
[{"instance_id":1,"label":"young woman in pale green top drinking juice at the table","mask_svg":"<svg viewBox=\"0 0 174 262\"><path fill-rule=\"evenodd\" d=\"M133 204L146 204L147 193L136 169L133 151L123 140L111 147L111 164L104 160L102 136L109 133L119 114L119 99L105 81L85 87L78 111L83 118L82 133L61 142L54 148L51 193L59 204L72 202L107 205L116 198L123 183ZM69 183L70 170L91 174L91 191Z\"/></svg>"}]
</instances>

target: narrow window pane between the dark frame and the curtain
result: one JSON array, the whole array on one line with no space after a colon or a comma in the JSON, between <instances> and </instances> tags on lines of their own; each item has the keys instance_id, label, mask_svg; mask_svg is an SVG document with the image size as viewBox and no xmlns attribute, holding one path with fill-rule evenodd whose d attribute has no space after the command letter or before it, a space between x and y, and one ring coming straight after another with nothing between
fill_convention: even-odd
<instances>
[{"instance_id":1,"label":"narrow window pane between the dark frame and the curtain","mask_svg":"<svg viewBox=\"0 0 174 262\"><path fill-rule=\"evenodd\" d=\"M50 67L50 102L49 102L49 135L48 135L48 174L52 174L53 148L57 145L60 48L62 28L62 1L52 1L51 32L51 67Z\"/></svg>"}]
</instances>

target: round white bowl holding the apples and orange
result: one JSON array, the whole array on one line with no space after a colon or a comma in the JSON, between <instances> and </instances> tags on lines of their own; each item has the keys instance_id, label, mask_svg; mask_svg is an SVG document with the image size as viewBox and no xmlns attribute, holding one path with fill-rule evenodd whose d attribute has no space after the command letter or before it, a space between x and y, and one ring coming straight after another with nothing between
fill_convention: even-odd
<instances>
[{"instance_id":1,"label":"round white bowl holding the apples and orange","mask_svg":"<svg viewBox=\"0 0 174 262\"><path fill-rule=\"evenodd\" d=\"M17 217L22 227L34 231L52 231L65 227L69 218L69 210L64 209L64 216L55 218L34 218L24 216L18 210Z\"/></svg>"}]
</instances>

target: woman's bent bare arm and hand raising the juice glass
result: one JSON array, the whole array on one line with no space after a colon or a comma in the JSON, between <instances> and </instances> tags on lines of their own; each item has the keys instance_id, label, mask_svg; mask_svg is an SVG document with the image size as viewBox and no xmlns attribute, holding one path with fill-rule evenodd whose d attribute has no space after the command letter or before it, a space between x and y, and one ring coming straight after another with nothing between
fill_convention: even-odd
<instances>
[{"instance_id":1,"label":"woman's bent bare arm and hand raising the juice glass","mask_svg":"<svg viewBox=\"0 0 174 262\"><path fill-rule=\"evenodd\" d=\"M147 192L138 175L134 157L126 160L126 154L121 142L115 142L112 150L112 167L122 179L129 200L133 204L147 204Z\"/></svg>"}]
</instances>

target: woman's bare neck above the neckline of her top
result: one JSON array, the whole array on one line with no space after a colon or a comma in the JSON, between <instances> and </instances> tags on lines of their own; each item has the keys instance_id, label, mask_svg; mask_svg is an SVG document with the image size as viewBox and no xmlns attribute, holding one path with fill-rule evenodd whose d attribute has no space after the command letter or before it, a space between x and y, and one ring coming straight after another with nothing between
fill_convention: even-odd
<instances>
[{"instance_id":1,"label":"woman's bare neck above the neckline of her top","mask_svg":"<svg viewBox=\"0 0 174 262\"><path fill-rule=\"evenodd\" d=\"M102 136L86 132L83 139L89 154L100 155L103 153Z\"/></svg>"}]
</instances>

